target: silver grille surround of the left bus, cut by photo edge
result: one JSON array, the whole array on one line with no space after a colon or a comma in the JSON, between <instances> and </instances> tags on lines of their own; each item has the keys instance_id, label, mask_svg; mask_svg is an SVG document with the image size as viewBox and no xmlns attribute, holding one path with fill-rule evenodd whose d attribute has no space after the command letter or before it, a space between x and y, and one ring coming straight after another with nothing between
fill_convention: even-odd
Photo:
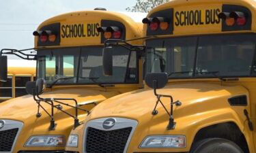
<instances>
[{"instance_id":1,"label":"silver grille surround of the left bus, cut by photo edge","mask_svg":"<svg viewBox=\"0 0 256 153\"><path fill-rule=\"evenodd\" d=\"M1 119L0 119L1 120ZM23 129L23 122L19 122L16 120L3 120L5 122L4 126L0 131L7 131L11 129L18 129L18 133L16 134L16 137L14 139L14 143L12 144L12 150L10 152L0 152L0 153L12 153L14 151L14 147L16 145L16 141L18 139L18 136L20 135L20 131Z\"/></svg>"}]
</instances>

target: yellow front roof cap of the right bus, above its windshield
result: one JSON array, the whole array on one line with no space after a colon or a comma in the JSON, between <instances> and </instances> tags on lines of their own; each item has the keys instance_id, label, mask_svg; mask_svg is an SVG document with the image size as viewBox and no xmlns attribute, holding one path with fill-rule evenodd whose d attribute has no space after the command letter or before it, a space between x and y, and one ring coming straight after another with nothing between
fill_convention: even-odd
<instances>
[{"instance_id":1,"label":"yellow front roof cap of the right bus, above its windshield","mask_svg":"<svg viewBox=\"0 0 256 153\"><path fill-rule=\"evenodd\" d=\"M222 18L219 15L223 12L240 12L244 14L246 21L238 20L237 16ZM252 32L256 31L253 22L256 17L256 0L171 0L155 7L147 15L147 18L156 17L168 18L170 26L166 31L150 31L148 24L145 24L144 31L147 35ZM227 18L235 20L227 21Z\"/></svg>"}]
</instances>

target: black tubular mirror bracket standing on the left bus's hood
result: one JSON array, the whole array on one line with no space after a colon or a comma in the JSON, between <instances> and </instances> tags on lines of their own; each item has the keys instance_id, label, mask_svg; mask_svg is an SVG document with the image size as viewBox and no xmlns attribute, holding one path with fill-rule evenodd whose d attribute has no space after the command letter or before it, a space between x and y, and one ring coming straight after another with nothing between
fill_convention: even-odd
<instances>
[{"instance_id":1,"label":"black tubular mirror bracket standing on the left bus's hood","mask_svg":"<svg viewBox=\"0 0 256 153\"><path fill-rule=\"evenodd\" d=\"M56 129L57 124L55 123L55 119L54 119L54 108L58 109L59 111L63 112L64 114L67 114L68 116L74 118L74 129L76 129L77 126L81 125L79 122L79 118L78 118L78 110L82 110L84 112L87 112L87 114L89 114L89 111L86 109L82 109L79 107L76 99L44 99L39 97L38 94L33 94L33 99L36 101L36 103L38 103L38 114L36 115L38 118L40 118L42 116L42 114L40 114L40 107L44 110L44 112L46 112L46 114L48 114L48 116L50 116L51 118L51 125L49 127L49 131L54 131ZM73 105L69 105L68 103L63 103L61 102L61 100L63 101L74 101L74 103L76 104L76 106ZM47 112L47 110L41 105L41 101L44 101L45 103L47 103L48 105L51 105L51 114ZM61 105L66 105L68 107L72 107L75 109L75 116L73 116L72 114L64 111L62 109L61 105L54 105L55 103L59 103ZM93 103L88 103L88 105L92 105Z\"/></svg>"}]
</instances>

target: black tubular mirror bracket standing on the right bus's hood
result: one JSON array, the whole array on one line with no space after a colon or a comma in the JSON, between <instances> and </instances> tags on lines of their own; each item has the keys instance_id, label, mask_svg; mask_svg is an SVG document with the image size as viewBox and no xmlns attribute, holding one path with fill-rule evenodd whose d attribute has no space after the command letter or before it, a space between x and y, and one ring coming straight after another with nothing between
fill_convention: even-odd
<instances>
[{"instance_id":1,"label":"black tubular mirror bracket standing on the right bus's hood","mask_svg":"<svg viewBox=\"0 0 256 153\"><path fill-rule=\"evenodd\" d=\"M169 95L158 95L156 93L156 88L154 88L154 95L156 95L157 101L156 101L156 105L154 107L154 110L152 112L152 115L155 116L156 114L158 114L158 111L156 110L156 107L158 106L158 103L160 103L162 105L162 107L164 107L165 112L167 112L167 114L169 115L169 124L167 126L167 130L175 129L176 122L174 121L174 118L173 118L173 105L180 106L180 105L182 105L182 103L180 101L173 102L173 97L171 97ZM168 112L167 107L165 107L165 105L162 103L161 97L166 97L166 98L170 98L171 99L171 113Z\"/></svg>"}]
</instances>

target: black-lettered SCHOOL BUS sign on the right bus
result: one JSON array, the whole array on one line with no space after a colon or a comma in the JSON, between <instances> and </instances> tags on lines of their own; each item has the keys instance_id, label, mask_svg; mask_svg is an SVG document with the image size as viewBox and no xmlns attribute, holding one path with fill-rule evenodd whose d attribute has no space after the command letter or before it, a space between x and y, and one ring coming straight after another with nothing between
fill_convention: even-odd
<instances>
[{"instance_id":1,"label":"black-lettered SCHOOL BUS sign on the right bus","mask_svg":"<svg viewBox=\"0 0 256 153\"><path fill-rule=\"evenodd\" d=\"M221 12L221 5L175 7L173 13L173 33L197 33L199 30L201 32L221 31L221 20L218 18L218 14Z\"/></svg>"}]
</instances>

